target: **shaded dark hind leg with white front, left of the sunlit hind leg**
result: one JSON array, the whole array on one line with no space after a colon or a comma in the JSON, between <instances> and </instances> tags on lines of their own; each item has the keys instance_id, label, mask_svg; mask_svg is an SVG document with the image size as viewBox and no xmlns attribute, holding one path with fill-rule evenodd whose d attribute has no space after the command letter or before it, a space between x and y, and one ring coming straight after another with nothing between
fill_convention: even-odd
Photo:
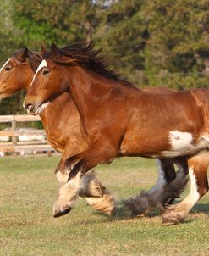
<instances>
[{"instance_id":1,"label":"shaded dark hind leg with white front, left of the sunlit hind leg","mask_svg":"<svg viewBox=\"0 0 209 256\"><path fill-rule=\"evenodd\" d=\"M135 216L146 214L157 206L161 207L163 194L168 184L176 177L172 159L157 159L158 180L155 186L148 192L140 192L136 198L124 201L126 207Z\"/></svg>"}]
</instances>

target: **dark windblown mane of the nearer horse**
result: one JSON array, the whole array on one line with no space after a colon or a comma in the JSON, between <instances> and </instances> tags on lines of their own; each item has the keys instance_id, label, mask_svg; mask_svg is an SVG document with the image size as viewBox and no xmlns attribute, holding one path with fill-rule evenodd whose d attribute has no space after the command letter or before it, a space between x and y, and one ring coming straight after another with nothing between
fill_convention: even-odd
<instances>
[{"instance_id":1,"label":"dark windblown mane of the nearer horse","mask_svg":"<svg viewBox=\"0 0 209 256\"><path fill-rule=\"evenodd\" d=\"M53 56L52 53L46 53L44 58L51 58L55 63L63 65L77 64L107 78L133 86L129 81L124 81L118 73L110 68L107 60L101 53L102 49L94 50L94 42L78 42L72 46L58 48L58 51L61 57ZM62 58L62 56L66 58Z\"/></svg>"}]
</instances>

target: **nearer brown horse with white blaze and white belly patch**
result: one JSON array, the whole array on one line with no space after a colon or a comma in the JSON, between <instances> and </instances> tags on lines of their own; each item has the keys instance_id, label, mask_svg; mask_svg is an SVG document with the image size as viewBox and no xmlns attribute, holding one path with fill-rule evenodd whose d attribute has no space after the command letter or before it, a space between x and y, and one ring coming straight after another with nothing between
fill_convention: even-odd
<instances>
[{"instance_id":1,"label":"nearer brown horse with white blaze and white belly patch","mask_svg":"<svg viewBox=\"0 0 209 256\"><path fill-rule=\"evenodd\" d=\"M59 49L52 44L36 70L25 108L37 114L64 92L69 92L79 110L89 148L68 159L66 164L78 163L60 191L59 198L64 200L58 198L55 214L69 212L80 191L81 177L97 164L118 156L181 157L189 164L190 193L166 209L163 219L166 223L183 220L208 191L209 90L143 92L107 70L91 45Z\"/></svg>"}]
</instances>

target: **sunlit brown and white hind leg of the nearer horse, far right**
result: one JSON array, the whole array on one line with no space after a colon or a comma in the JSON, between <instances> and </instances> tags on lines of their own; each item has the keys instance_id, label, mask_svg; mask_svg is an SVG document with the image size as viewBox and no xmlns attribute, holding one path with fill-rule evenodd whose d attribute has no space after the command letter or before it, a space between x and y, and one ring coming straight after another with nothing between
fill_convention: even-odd
<instances>
[{"instance_id":1,"label":"sunlit brown and white hind leg of the nearer horse, far right","mask_svg":"<svg viewBox=\"0 0 209 256\"><path fill-rule=\"evenodd\" d=\"M190 175L190 192L180 203L168 207L162 214L163 225L178 224L184 220L190 209L208 191L207 167L209 164L209 152L200 153L188 159Z\"/></svg>"}]
</instances>

